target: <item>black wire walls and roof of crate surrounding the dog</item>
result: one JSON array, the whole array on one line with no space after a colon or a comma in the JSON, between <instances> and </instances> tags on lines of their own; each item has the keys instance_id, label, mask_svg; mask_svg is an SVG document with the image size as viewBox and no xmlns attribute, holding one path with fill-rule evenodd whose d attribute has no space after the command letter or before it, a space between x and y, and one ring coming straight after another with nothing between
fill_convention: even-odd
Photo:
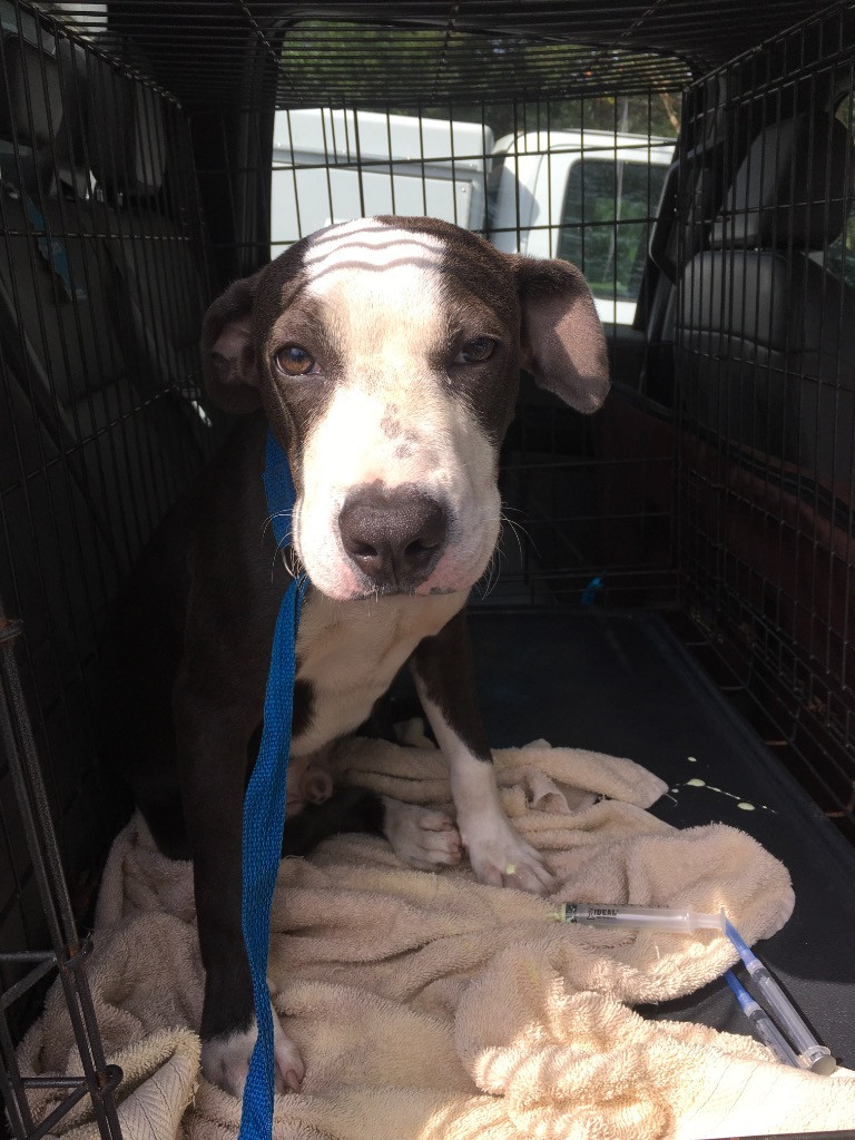
<instances>
[{"instance_id":1,"label":"black wire walls and roof of crate surrounding the dog","mask_svg":"<svg viewBox=\"0 0 855 1140\"><path fill-rule=\"evenodd\" d=\"M855 838L855 5L309 8L0 0L16 1138L56 1123L14 1053L52 967L84 1058L68 1105L89 1090L119 1134L85 991L129 809L98 763L98 634L228 427L201 388L206 306L321 225L435 213L585 270L614 394L587 420L523 383L477 605L667 612Z\"/></svg>"}]
</instances>

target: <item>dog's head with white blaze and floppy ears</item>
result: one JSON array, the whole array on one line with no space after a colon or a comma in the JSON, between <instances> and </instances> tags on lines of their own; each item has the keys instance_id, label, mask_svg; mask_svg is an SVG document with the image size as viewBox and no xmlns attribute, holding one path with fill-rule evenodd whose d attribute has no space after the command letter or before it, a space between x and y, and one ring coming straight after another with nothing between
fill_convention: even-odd
<instances>
[{"instance_id":1,"label":"dog's head with white blaze and floppy ears","mask_svg":"<svg viewBox=\"0 0 855 1140\"><path fill-rule=\"evenodd\" d=\"M209 310L211 398L261 405L296 486L294 547L334 598L467 589L499 532L521 365L580 412L609 388L581 274L424 218L314 234Z\"/></svg>"}]
</instances>

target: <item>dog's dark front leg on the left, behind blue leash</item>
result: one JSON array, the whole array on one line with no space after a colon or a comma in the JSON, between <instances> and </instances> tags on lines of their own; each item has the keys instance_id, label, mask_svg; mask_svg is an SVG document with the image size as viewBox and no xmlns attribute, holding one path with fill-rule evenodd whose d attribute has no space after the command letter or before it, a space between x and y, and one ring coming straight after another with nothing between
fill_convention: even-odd
<instances>
[{"instance_id":1,"label":"dog's dark front leg on the left, behind blue leash","mask_svg":"<svg viewBox=\"0 0 855 1140\"><path fill-rule=\"evenodd\" d=\"M193 675L190 673L190 675ZM258 711L212 705L179 678L174 693L184 811L193 852L199 948L205 968L202 1072L243 1096L258 1036L241 926L241 837L246 749ZM303 1064L274 1011L276 1088L298 1091Z\"/></svg>"}]
</instances>

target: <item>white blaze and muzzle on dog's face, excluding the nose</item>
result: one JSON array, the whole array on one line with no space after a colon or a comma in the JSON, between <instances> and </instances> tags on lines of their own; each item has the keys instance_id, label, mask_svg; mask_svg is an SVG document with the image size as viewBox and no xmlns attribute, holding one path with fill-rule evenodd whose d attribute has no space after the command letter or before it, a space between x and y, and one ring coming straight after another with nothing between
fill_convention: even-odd
<instances>
[{"instance_id":1,"label":"white blaze and muzzle on dog's face, excluding the nose","mask_svg":"<svg viewBox=\"0 0 855 1140\"><path fill-rule=\"evenodd\" d=\"M417 594L469 588L496 546L497 441L462 398L455 373L471 366L454 361L458 343L507 341L515 329L488 311L454 311L443 255L430 233L358 221L321 234L303 256L304 296L317 304L336 364L334 380L303 381L333 390L303 439L294 543L311 581L332 597L376 589L339 526L360 487L410 487L445 507L443 548Z\"/></svg>"}]
</instances>

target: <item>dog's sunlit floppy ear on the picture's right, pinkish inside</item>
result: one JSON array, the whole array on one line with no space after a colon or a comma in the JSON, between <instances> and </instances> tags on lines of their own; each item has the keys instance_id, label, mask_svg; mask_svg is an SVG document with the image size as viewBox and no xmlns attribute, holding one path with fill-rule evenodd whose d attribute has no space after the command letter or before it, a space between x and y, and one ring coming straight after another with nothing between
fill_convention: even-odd
<instances>
[{"instance_id":1,"label":"dog's sunlit floppy ear on the picture's right, pinkish inside","mask_svg":"<svg viewBox=\"0 0 855 1140\"><path fill-rule=\"evenodd\" d=\"M522 360L540 388L578 412L609 393L609 353L594 298L569 261L514 256L522 312Z\"/></svg>"}]
</instances>

